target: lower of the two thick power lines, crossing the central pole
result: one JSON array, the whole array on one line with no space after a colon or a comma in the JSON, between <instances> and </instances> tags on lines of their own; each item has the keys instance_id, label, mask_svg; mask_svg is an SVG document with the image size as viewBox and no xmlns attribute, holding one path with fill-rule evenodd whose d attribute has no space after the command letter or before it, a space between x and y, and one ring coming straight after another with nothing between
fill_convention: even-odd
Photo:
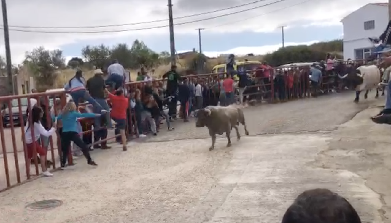
<instances>
[{"instance_id":1,"label":"lower of the two thick power lines, crossing the central pole","mask_svg":"<svg viewBox=\"0 0 391 223\"><path fill-rule=\"evenodd\" d=\"M174 25L185 25L185 24L196 23L196 22L200 22L200 21L206 21L206 20L210 20L210 19L221 18L221 17L230 16L230 15L234 15L234 14L238 14L238 13L242 13L242 12L251 11L251 10L254 10L254 9L261 8L261 7L266 7L268 5L273 5L273 4L277 4L279 2L284 2L284 1L286 1L286 0L278 0L276 2L271 2L271 3L265 4L265 5L260 5L260 6L252 7L252 8L249 8L249 9L244 9L244 10L240 10L240 11L236 11L236 12L230 12L230 13L227 13L227 14L222 14L222 15L219 15L219 16L212 16L212 17L204 18L204 19L197 19L197 20L194 20L194 21L176 23ZM149 30L149 29L164 28L164 27L169 27L169 25L161 25L161 26L146 27L146 28L125 29L125 30L81 31L81 32L71 32L71 31L38 31L38 30L20 30L20 29L10 29L10 31L14 31L14 32L30 32L30 33L47 33L47 34L50 34L50 33L53 33L53 34L54 33L56 33L56 34L61 34L61 33L62 34L93 34L93 33L115 33L115 32Z\"/></svg>"}]
</instances>

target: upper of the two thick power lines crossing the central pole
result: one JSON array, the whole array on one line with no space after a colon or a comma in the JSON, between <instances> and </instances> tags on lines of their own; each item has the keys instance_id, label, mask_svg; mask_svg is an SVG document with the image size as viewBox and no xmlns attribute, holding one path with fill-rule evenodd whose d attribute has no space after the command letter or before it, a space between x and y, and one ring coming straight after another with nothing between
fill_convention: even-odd
<instances>
[{"instance_id":1,"label":"upper of the two thick power lines crossing the central pole","mask_svg":"<svg viewBox=\"0 0 391 223\"><path fill-rule=\"evenodd\" d=\"M198 14L191 14L191 15L187 15L187 16L181 16L181 17L177 17L177 18L174 18L174 19L184 19L184 18L190 18L190 17L195 17L195 16L202 16L202 15L206 15L206 14L211 14L211 13L215 13L215 12L221 12L221 11L226 11L226 10L229 10L229 9L235 9L235 8L239 8L239 7L243 7L243 6L247 6L247 5L252 5L252 4L256 4L258 2L264 2L264 1L267 1L267 0L257 0L257 1L254 1L254 2L249 2L249 3L246 3L246 4L241 4L241 5L235 5L235 6L231 6L231 7L228 7L228 8L224 8L224 9L217 9L217 10L214 10L214 11L208 11L208 12L202 12L202 13L198 13ZM143 22L138 22L138 23L124 23L124 24L112 24L112 25L99 25L99 26L84 26L84 27L34 27L34 26L17 26L17 25L10 25L9 27L14 27L14 28L48 28L48 29L52 29L52 28L104 28L104 27L121 27L121 26L130 26L130 25L141 25L141 24L149 24L149 23L158 23L158 22L163 22L163 21L168 21L169 19L159 19L159 20L152 20L152 21L143 21Z\"/></svg>"}]
</instances>

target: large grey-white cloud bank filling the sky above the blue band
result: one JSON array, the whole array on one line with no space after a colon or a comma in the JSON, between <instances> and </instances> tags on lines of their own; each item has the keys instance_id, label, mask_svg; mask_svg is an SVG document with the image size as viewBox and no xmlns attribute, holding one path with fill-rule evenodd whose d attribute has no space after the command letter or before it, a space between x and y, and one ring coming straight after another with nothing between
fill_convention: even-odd
<instances>
[{"instance_id":1,"label":"large grey-white cloud bank filling the sky above the blue band","mask_svg":"<svg viewBox=\"0 0 391 223\"><path fill-rule=\"evenodd\" d=\"M240 5L254 0L173 0L174 17L186 16L206 11L213 11L234 5ZM276 0L265 0L257 4L231 9L213 14L176 19L175 24L210 18L229 12L249 9L251 7L269 4ZM384 2L384 0L287 0L267 7L247 11L240 14L221 17L217 19L200 21L175 27L176 33L194 33L195 28L206 28L209 32L242 32L251 30L255 32L280 32L276 28L280 25L289 27L293 23L305 23L312 25L337 24L337 21L369 2ZM84 28L84 29L31 29L15 28L19 26L96 26L121 23L137 23L167 18L167 1L162 0L8 0L8 16L10 29L43 30L43 31L109 31L129 30L145 27L165 26L168 21L159 23L141 24L122 27ZM284 9L285 8L285 9ZM223 25L228 24L228 25ZM223 26L221 26L223 25ZM167 27L100 34L39 34L27 32L10 32L11 54L14 63L23 60L25 51L30 51L37 46L45 46L48 49L60 48L62 45L75 43L81 40L93 40L103 38L115 38L127 36L140 38L142 35L154 35L167 33ZM0 30L0 38L4 36ZM161 41L161 40L156 40ZM239 48L238 48L239 49ZM242 48L243 49L243 48ZM167 49L168 50L168 49ZM1 42L0 54L4 55L4 43Z\"/></svg>"}]
</instances>

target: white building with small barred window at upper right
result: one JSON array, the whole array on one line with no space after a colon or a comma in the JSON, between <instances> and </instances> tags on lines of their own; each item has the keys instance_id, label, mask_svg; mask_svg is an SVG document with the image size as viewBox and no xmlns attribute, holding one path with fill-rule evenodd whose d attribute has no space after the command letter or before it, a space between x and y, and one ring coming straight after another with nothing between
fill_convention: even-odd
<instances>
[{"instance_id":1,"label":"white building with small barred window at upper right","mask_svg":"<svg viewBox=\"0 0 391 223\"><path fill-rule=\"evenodd\" d=\"M368 58L373 45L368 37L379 37L388 24L388 4L370 3L341 20L344 59Z\"/></svg>"}]
</instances>

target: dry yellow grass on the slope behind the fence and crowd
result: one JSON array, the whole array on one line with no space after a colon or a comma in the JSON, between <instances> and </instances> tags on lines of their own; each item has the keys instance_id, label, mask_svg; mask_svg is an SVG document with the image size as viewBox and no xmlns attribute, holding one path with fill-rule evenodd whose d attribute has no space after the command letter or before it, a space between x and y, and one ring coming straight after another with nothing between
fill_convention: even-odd
<instances>
[{"instance_id":1,"label":"dry yellow grass on the slope behind the fence and crowd","mask_svg":"<svg viewBox=\"0 0 391 223\"><path fill-rule=\"evenodd\" d=\"M237 58L237 60L245 60L245 59L250 60L250 61L251 60L262 60L262 56L238 57ZM224 57L211 58L207 62L208 67L213 67L217 64L225 63L225 60L226 60L226 58L224 58ZM178 60L177 61L178 71L181 72L181 71L187 69L186 64L188 64L188 62L185 59ZM156 78L160 78L161 76L163 76L164 73L169 71L169 69L170 69L170 64L160 65L159 67L155 68L155 75L154 76ZM130 71L131 80L136 80L138 70L127 69L127 71ZM64 70L57 71L57 78L55 81L55 86L53 86L53 88L63 88L64 85L70 80L70 78L72 78L75 75L75 73L76 73L75 69L64 69ZM86 80L88 80L88 78L91 78L94 75L93 70L83 70L83 75L84 75L84 78L86 78Z\"/></svg>"}]
</instances>

